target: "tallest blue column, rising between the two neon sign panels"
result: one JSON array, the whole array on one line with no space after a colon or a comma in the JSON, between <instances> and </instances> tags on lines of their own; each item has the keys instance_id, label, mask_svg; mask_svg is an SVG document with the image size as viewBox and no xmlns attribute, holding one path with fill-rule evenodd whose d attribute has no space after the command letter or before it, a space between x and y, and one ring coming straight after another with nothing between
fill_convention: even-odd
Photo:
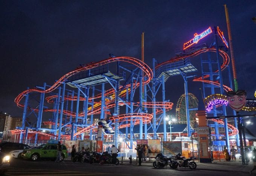
<instances>
[{"instance_id":1,"label":"tallest blue column, rising between the two neon sign panels","mask_svg":"<svg viewBox=\"0 0 256 176\"><path fill-rule=\"evenodd\" d=\"M216 57L217 57L217 61L218 61L218 72L219 72L219 84L220 84L220 89L221 89L221 94L224 94L224 89L223 89L223 80L222 80L222 73L221 73L221 63L219 60L219 45L218 45L218 33L216 30L216 27L214 27L214 38L215 38L215 48L216 48ZM226 116L227 112L226 112L226 106L222 106L222 110L223 110L223 115ZM224 119L224 124L225 124L225 134L226 134L226 145L227 145L227 149L228 151L230 151L230 145L229 145L229 129L227 127L227 119Z\"/></svg>"}]
</instances>

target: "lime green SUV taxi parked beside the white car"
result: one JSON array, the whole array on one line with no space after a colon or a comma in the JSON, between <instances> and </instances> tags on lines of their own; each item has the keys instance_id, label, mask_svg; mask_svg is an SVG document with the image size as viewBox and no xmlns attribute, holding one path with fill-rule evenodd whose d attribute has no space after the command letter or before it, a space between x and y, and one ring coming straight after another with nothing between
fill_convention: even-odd
<instances>
[{"instance_id":1,"label":"lime green SUV taxi parked beside the white car","mask_svg":"<svg viewBox=\"0 0 256 176\"><path fill-rule=\"evenodd\" d=\"M67 147L65 145L61 145L61 149L62 154L60 161L63 161L64 158L67 158L68 156ZM57 157L57 151L57 144L43 144L37 148L23 150L21 157L33 161L37 161L39 158L55 160Z\"/></svg>"}]
</instances>

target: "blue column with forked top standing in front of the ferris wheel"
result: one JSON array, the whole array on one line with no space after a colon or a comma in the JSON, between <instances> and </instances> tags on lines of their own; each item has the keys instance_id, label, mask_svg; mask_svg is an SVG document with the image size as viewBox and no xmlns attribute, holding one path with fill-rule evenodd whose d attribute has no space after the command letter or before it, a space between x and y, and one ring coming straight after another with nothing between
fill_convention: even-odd
<instances>
[{"instance_id":1,"label":"blue column with forked top standing in front of the ferris wheel","mask_svg":"<svg viewBox=\"0 0 256 176\"><path fill-rule=\"evenodd\" d=\"M189 116L189 92L187 90L187 78L191 78L194 76L186 76L184 72L180 70L181 76L184 79L184 87L185 87L185 100L186 100L186 114L187 114L187 137L191 136L190 130L190 116Z\"/></svg>"}]
</instances>

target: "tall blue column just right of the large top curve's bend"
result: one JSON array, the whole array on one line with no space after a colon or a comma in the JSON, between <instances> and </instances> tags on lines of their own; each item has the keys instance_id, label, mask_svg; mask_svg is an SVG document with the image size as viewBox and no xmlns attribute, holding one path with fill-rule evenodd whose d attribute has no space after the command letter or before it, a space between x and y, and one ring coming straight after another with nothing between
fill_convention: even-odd
<instances>
[{"instance_id":1,"label":"tall blue column just right of the large top curve's bend","mask_svg":"<svg viewBox=\"0 0 256 176\"><path fill-rule=\"evenodd\" d=\"M155 58L153 58L153 79L152 79L152 94L153 94L153 131L154 131L154 139L157 139L157 131L156 131L156 107L155 107Z\"/></svg>"}]
</instances>

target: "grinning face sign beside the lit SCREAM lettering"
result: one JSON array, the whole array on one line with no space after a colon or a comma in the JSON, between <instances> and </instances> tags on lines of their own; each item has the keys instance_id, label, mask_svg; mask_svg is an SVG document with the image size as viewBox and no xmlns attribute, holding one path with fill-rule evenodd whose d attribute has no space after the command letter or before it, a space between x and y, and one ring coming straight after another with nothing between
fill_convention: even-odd
<instances>
[{"instance_id":1,"label":"grinning face sign beside the lit SCREAM lettering","mask_svg":"<svg viewBox=\"0 0 256 176\"><path fill-rule=\"evenodd\" d=\"M244 90L227 92L229 106L235 111L241 110L246 104L246 94Z\"/></svg>"}]
</instances>

